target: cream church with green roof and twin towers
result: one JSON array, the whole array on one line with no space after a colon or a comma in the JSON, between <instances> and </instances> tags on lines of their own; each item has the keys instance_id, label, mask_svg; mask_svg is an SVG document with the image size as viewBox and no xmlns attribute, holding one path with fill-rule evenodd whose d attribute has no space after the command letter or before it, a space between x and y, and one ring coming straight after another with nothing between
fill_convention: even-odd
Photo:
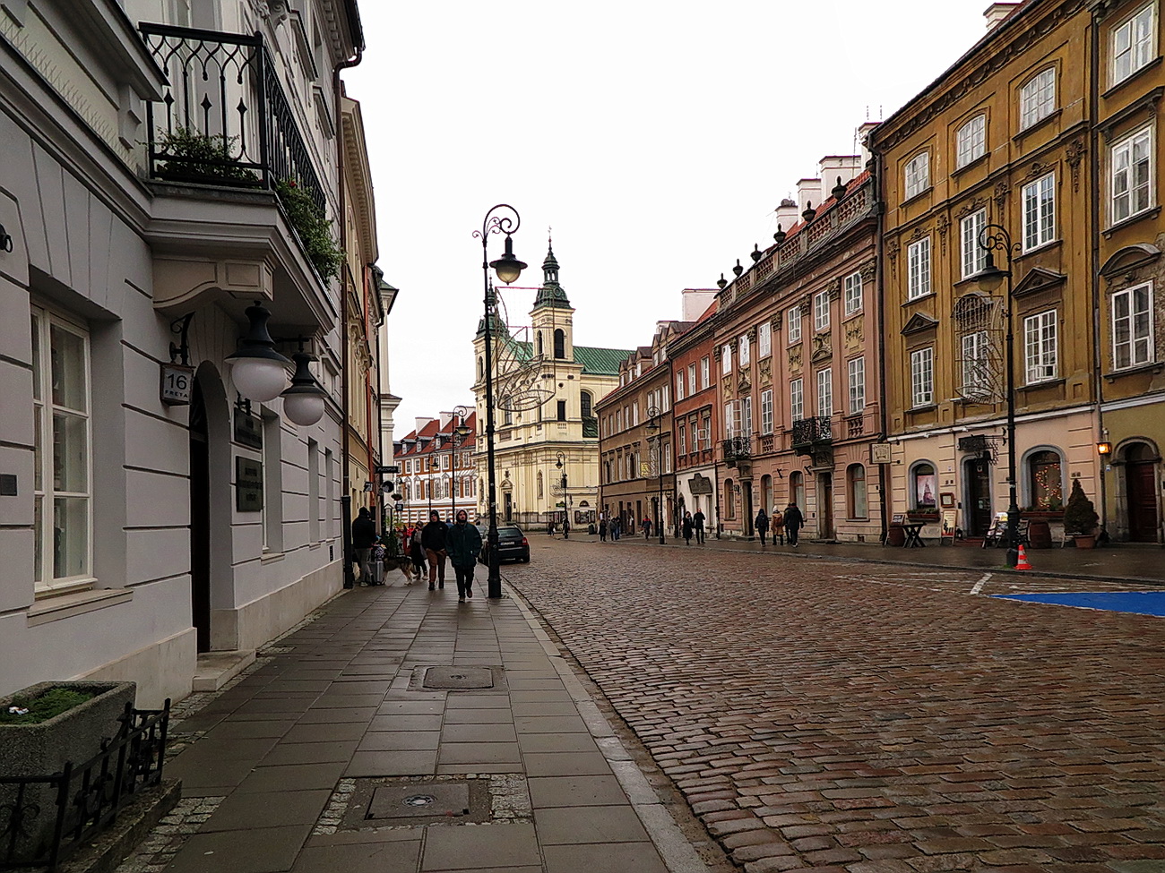
<instances>
[{"instance_id":1,"label":"cream church with green roof and twin towers","mask_svg":"<svg viewBox=\"0 0 1165 873\"><path fill-rule=\"evenodd\" d=\"M574 308L558 282L553 244L542 262L542 285L530 327L513 335L490 324L494 359L497 521L527 531L585 531L598 524L599 420L594 406L619 386L619 365L630 349L576 346ZM473 340L478 411L478 512L488 516L486 482L486 321ZM565 488L564 488L565 482Z\"/></svg>"}]
</instances>

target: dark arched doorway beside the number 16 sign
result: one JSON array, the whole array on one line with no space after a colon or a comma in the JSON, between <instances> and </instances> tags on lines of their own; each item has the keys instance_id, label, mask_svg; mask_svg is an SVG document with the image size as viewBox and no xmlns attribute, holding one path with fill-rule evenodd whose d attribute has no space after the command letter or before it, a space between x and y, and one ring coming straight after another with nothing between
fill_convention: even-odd
<instances>
[{"instance_id":1,"label":"dark arched doorway beside the number 16 sign","mask_svg":"<svg viewBox=\"0 0 1165 873\"><path fill-rule=\"evenodd\" d=\"M198 652L211 648L211 453L198 379L190 398L190 620Z\"/></svg>"}]
</instances>

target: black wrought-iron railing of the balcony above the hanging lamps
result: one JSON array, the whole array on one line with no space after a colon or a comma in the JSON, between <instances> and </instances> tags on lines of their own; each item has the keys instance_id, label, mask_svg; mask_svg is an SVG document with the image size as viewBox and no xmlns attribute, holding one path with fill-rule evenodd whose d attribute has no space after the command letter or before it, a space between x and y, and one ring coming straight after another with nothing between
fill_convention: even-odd
<instances>
[{"instance_id":1,"label":"black wrought-iron railing of the balcony above the hanging lamps","mask_svg":"<svg viewBox=\"0 0 1165 873\"><path fill-rule=\"evenodd\" d=\"M261 34L139 29L169 83L162 100L146 107L151 178L267 190L294 180L326 210Z\"/></svg>"}]
</instances>

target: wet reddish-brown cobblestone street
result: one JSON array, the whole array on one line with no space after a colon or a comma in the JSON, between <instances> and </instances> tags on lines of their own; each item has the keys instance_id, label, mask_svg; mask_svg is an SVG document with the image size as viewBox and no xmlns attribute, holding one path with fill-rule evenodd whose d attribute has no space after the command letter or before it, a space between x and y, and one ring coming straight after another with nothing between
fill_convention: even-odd
<instances>
[{"instance_id":1,"label":"wet reddish-brown cobblestone street","mask_svg":"<svg viewBox=\"0 0 1165 873\"><path fill-rule=\"evenodd\" d=\"M1165 870L1135 584L531 538L503 570L748 873Z\"/></svg>"}]
</instances>

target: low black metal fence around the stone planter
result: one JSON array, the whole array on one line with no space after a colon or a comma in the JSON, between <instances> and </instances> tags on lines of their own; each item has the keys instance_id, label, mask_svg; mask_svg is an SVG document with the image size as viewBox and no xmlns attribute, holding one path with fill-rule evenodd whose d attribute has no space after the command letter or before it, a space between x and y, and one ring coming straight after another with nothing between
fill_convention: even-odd
<instances>
[{"instance_id":1,"label":"low black metal fence around the stone planter","mask_svg":"<svg viewBox=\"0 0 1165 873\"><path fill-rule=\"evenodd\" d=\"M118 717L113 738L59 773L0 776L0 871L57 865L111 825L134 795L162 781L170 701ZM51 819L49 818L51 815Z\"/></svg>"}]
</instances>

